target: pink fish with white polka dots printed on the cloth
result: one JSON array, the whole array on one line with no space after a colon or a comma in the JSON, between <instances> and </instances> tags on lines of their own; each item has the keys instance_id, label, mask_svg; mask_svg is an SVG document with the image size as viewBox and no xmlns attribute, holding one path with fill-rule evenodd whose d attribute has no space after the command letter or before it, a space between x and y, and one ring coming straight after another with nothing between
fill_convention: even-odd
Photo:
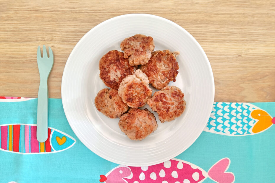
<instances>
[{"instance_id":1,"label":"pink fish with white polka dots printed on the cloth","mask_svg":"<svg viewBox=\"0 0 275 183\"><path fill-rule=\"evenodd\" d=\"M214 164L208 172L200 167L179 159L171 159L152 166L119 165L106 175L100 175L99 182L105 183L197 183L210 178L218 183L232 183L235 176L227 172L230 159L224 158Z\"/></svg>"}]
</instances>

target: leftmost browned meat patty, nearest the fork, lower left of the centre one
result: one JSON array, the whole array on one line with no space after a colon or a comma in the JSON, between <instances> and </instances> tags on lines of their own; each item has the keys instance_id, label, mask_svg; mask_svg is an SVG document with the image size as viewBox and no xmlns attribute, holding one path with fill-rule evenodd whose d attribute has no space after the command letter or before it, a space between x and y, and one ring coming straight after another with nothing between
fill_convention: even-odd
<instances>
[{"instance_id":1,"label":"leftmost browned meat patty, nearest the fork, lower left of the centre one","mask_svg":"<svg viewBox=\"0 0 275 183\"><path fill-rule=\"evenodd\" d=\"M109 118L117 118L123 115L128 106L117 93L117 89L104 88L98 92L95 98L95 105L99 112Z\"/></svg>"}]
</instances>

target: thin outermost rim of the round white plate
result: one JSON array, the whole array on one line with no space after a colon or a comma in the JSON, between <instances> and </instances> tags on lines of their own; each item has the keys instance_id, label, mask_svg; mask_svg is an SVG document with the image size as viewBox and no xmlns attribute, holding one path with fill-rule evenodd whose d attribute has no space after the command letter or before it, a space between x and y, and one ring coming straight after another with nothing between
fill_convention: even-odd
<instances>
[{"instance_id":1,"label":"thin outermost rim of the round white plate","mask_svg":"<svg viewBox=\"0 0 275 183\"><path fill-rule=\"evenodd\" d=\"M160 16L156 16L156 15L152 15L152 14L143 14L143 13L135 13L135 14L123 14L123 15L119 15L119 16L116 16L116 17L112 17L110 19L107 19L99 24L97 24L95 27L93 27L92 29L90 29L85 35L83 35L83 37L81 37L81 39L77 42L77 44L74 46L74 48L72 49L69 57L67 58L67 61L66 61L66 64L65 64L65 67L64 67L64 70L63 70L63 74L62 74L62 81L61 81L61 99L62 99L62 106L63 106L63 109L64 109L64 113L65 113L65 116L67 118L67 121L71 127L71 129L73 130L73 132L75 133L76 132L76 129L72 128L72 125L70 124L69 120L68 120L68 111L65 109L65 101L64 101L64 75L65 75L65 72L68 68L68 64L67 62L70 60L70 58L72 57L73 53L75 52L75 50L77 49L78 45L82 43L82 41L88 36L88 34L90 34L90 32L92 32L93 30L95 30L97 27L99 27L101 24L106 24L110 21L113 21L115 19L120 19L120 18L124 18L124 17L131 17L131 16L140 16L140 17L152 17L152 18L156 18L156 19L160 19L161 21L166 21L170 24L173 24L174 26L178 27L181 31L185 32L193 41L194 43L198 46L198 48L200 49L201 53L203 54L203 58L206 60L206 64L208 66L208 70L210 71L210 75L211 75L211 83L212 83L212 104L211 104L211 109L209 110L209 115L208 115L208 119L211 115L211 110L212 110L212 105L213 105L213 102L214 102L214 98L215 98L215 83L214 83L214 76L213 76L213 70L212 70L212 67L211 67L211 64L208 60L208 57L206 55L206 53L204 52L203 48L201 47L201 45L198 43L198 41L187 31L185 30L183 27L181 27L180 25L178 25L177 23L169 20L169 19L166 19L164 17L160 17ZM185 146L185 150L180 150L178 152L175 152L173 153L173 155L167 157L167 158L163 158L163 160L161 160L161 162L164 162L164 161L168 161L176 156L178 156L179 154L183 153L184 151L186 151L197 139L198 137L201 135L201 133L203 132L203 129L206 127L207 125L207 120L206 119L206 122L205 122L205 125L203 126L203 128L199 131L200 133L198 133L198 135L196 136L196 138L194 138L193 140L190 140L190 145L188 146ZM77 136L77 134L75 133L75 135ZM77 136L78 138L78 136ZM80 140L80 138L78 138ZM83 143L86 147L86 142L83 142L82 140L80 140L81 143ZM88 147L87 147L88 148ZM92 151L90 148L88 148L90 151ZM93 152L93 151L92 151ZM95 153L95 152L93 152ZM121 161L118 161L118 160L113 160L113 159L110 159L109 157L106 157L106 156L102 156L101 154L98 154L98 153L95 153L96 155L100 156L101 158L103 159L106 159L107 161L110 161L110 162L113 162L113 163L116 163L116 164L123 164ZM151 166L151 165L155 165L155 164L158 164L158 163L161 163L160 161L158 161L157 163L147 163L147 164L138 164L138 163L128 163L126 166ZM125 164L124 164L125 165Z\"/></svg>"}]
</instances>

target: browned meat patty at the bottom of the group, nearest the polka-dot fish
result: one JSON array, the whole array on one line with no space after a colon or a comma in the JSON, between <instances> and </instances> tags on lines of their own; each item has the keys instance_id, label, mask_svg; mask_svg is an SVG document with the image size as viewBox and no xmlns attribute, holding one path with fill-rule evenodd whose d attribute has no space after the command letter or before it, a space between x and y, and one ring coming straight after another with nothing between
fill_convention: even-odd
<instances>
[{"instance_id":1,"label":"browned meat patty at the bottom of the group, nearest the polka-dot fish","mask_svg":"<svg viewBox=\"0 0 275 183\"><path fill-rule=\"evenodd\" d=\"M119 128L131 140L143 140L158 128L158 124L148 109L131 108L120 117Z\"/></svg>"}]
</instances>

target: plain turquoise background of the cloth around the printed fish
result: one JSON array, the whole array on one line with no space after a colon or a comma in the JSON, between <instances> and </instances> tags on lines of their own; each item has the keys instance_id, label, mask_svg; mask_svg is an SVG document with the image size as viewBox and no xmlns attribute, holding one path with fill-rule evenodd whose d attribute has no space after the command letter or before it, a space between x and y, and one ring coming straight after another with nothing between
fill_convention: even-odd
<instances>
[{"instance_id":1,"label":"plain turquoise background of the cloth around the printed fish","mask_svg":"<svg viewBox=\"0 0 275 183\"><path fill-rule=\"evenodd\" d=\"M275 102L253 103L275 116ZM36 124L37 99L0 102L0 125ZM57 153L18 154L0 151L0 183L99 182L118 164L94 154L76 137L67 122L61 99L49 99L49 127L70 135L76 143ZM0 149L1 150L1 149ZM275 182L275 125L254 135L227 136L203 131L177 159L205 170L228 157L227 171L235 182ZM207 178L204 182L214 182Z\"/></svg>"}]
</instances>

